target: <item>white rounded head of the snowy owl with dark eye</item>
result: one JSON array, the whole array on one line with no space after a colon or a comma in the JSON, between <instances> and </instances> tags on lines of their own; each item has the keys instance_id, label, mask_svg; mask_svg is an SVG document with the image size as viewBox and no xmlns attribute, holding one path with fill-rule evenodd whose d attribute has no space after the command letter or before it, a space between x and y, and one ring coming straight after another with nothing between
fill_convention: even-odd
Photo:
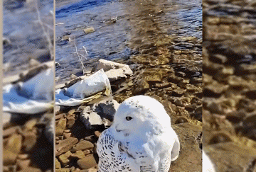
<instances>
[{"instance_id":1,"label":"white rounded head of the snowy owl with dark eye","mask_svg":"<svg viewBox=\"0 0 256 172\"><path fill-rule=\"evenodd\" d=\"M113 130L119 137L158 135L171 127L164 106L149 96L127 98L114 115Z\"/></svg>"}]
</instances>

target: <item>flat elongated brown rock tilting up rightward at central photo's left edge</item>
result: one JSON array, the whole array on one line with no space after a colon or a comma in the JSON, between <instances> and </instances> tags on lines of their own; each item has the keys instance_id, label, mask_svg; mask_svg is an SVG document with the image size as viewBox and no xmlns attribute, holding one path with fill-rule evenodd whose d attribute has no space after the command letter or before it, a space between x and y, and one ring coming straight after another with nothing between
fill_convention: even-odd
<instances>
[{"instance_id":1,"label":"flat elongated brown rock tilting up rightward at central photo's left edge","mask_svg":"<svg viewBox=\"0 0 256 172\"><path fill-rule=\"evenodd\" d=\"M69 151L75 144L78 143L78 139L75 137L70 137L68 139L61 140L59 144L55 147L55 156L59 156L66 151Z\"/></svg>"}]
</instances>

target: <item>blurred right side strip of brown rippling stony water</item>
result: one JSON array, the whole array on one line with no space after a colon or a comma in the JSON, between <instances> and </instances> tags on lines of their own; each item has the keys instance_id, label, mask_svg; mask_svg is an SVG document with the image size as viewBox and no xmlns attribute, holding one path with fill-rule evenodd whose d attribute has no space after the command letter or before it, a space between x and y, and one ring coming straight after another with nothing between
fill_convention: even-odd
<instances>
[{"instance_id":1,"label":"blurred right side strip of brown rippling stony water","mask_svg":"<svg viewBox=\"0 0 256 172\"><path fill-rule=\"evenodd\" d=\"M203 150L215 171L256 171L255 5L203 1Z\"/></svg>"}]
</instances>

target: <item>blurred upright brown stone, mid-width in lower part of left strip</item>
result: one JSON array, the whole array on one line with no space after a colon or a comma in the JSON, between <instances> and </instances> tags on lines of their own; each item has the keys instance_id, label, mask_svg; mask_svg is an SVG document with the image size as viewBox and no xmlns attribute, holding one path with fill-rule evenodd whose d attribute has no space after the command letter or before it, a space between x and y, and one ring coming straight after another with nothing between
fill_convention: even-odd
<instances>
[{"instance_id":1,"label":"blurred upright brown stone, mid-width in lower part of left strip","mask_svg":"<svg viewBox=\"0 0 256 172\"><path fill-rule=\"evenodd\" d=\"M37 141L37 136L33 132L25 132L23 133L23 150L26 152L32 151L33 147L35 147Z\"/></svg>"}]
</instances>

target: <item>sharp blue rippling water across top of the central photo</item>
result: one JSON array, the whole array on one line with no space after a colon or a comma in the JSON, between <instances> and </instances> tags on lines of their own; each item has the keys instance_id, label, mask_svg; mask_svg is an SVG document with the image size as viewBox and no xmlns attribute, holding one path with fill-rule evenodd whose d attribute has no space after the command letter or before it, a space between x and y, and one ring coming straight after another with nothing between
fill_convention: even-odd
<instances>
[{"instance_id":1,"label":"sharp blue rippling water across top of the central photo","mask_svg":"<svg viewBox=\"0 0 256 172\"><path fill-rule=\"evenodd\" d=\"M115 18L114 20L112 20ZM95 32L85 35L84 28ZM61 40L69 35L73 41ZM76 1L56 3L56 76L69 79L82 61L90 67L91 59L127 59L136 54L134 42L151 42L160 35L202 37L201 0L179 1ZM137 41L136 41L137 40ZM83 48L87 50L87 54Z\"/></svg>"}]
</instances>

